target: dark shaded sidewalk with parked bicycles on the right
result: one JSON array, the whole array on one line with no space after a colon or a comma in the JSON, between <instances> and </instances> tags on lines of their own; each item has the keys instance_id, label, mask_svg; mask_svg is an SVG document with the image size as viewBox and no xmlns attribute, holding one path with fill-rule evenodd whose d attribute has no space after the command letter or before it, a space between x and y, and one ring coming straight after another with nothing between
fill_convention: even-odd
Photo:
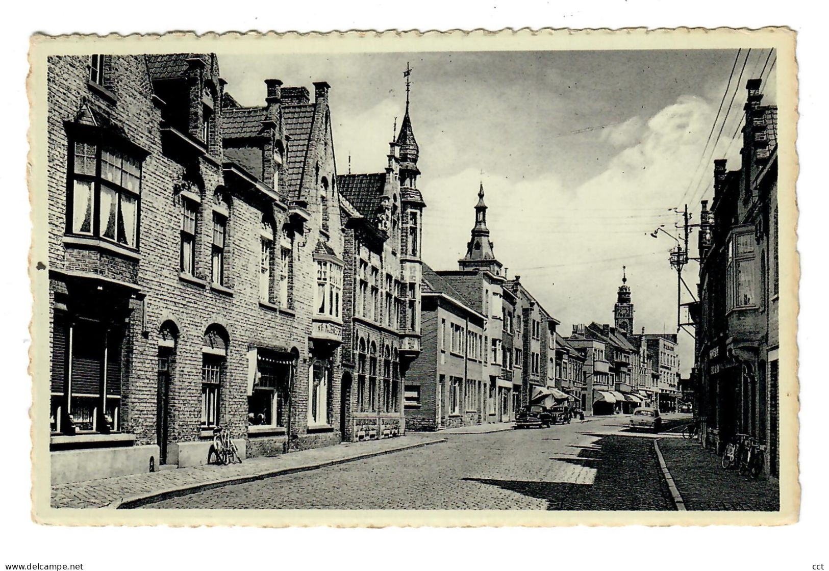
<instances>
[{"instance_id":1,"label":"dark shaded sidewalk with parked bicycles on the right","mask_svg":"<svg viewBox=\"0 0 829 571\"><path fill-rule=\"evenodd\" d=\"M696 440L662 438L662 457L689 511L778 511L775 481L723 470L720 457Z\"/></svg>"}]
</instances>

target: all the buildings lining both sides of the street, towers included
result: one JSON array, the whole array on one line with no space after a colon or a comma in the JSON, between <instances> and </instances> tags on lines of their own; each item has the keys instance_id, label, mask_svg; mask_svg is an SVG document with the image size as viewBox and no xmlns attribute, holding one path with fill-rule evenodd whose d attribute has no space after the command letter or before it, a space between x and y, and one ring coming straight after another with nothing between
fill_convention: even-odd
<instances>
[{"instance_id":1,"label":"all the buildings lining both sides of the street, towers included","mask_svg":"<svg viewBox=\"0 0 829 571\"><path fill-rule=\"evenodd\" d=\"M376 172L343 174L325 81L266 79L246 107L214 54L52 57L48 74L53 484L203 464L219 426L262 457L510 423L528 404L693 406L711 446L738 430L776 442L776 155L752 143L776 119L759 85L744 165L717 162L703 203L681 380L677 334L636 327L623 268L615 306L563 331L505 272L483 184L477 204L460 190L473 225L457 267L422 258L409 85Z\"/></svg>"}]
</instances>

